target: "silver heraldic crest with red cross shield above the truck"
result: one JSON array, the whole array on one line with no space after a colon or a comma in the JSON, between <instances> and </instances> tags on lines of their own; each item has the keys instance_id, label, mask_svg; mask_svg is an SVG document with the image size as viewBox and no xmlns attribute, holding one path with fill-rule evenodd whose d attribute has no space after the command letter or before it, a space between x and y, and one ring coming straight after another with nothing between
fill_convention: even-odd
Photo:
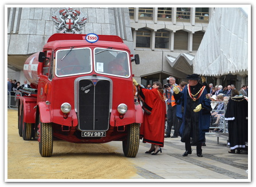
<instances>
[{"instance_id":1,"label":"silver heraldic crest with red cross shield above the truck","mask_svg":"<svg viewBox=\"0 0 256 187\"><path fill-rule=\"evenodd\" d=\"M81 34L87 15L73 8L58 9L52 14L58 33Z\"/></svg>"}]
</instances>

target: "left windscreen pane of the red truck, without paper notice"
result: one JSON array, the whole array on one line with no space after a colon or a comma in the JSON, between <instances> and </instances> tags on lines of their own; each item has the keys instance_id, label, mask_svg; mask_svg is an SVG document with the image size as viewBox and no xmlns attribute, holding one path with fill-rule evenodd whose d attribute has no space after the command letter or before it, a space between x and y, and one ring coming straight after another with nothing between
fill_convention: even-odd
<instances>
[{"instance_id":1,"label":"left windscreen pane of the red truck, without paper notice","mask_svg":"<svg viewBox=\"0 0 256 187\"><path fill-rule=\"evenodd\" d=\"M92 71L91 50L89 48L71 48L56 53L56 75L64 77L90 73Z\"/></svg>"}]
</instances>

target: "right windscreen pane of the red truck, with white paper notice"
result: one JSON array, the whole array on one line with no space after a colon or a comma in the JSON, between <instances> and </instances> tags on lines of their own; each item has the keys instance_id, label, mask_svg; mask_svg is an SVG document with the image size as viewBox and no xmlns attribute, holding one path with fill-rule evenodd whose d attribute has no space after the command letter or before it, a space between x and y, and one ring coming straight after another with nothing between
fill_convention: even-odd
<instances>
[{"instance_id":1,"label":"right windscreen pane of the red truck, with white paper notice","mask_svg":"<svg viewBox=\"0 0 256 187\"><path fill-rule=\"evenodd\" d=\"M94 49L94 68L97 73L130 77L128 53L115 49Z\"/></svg>"}]
</instances>

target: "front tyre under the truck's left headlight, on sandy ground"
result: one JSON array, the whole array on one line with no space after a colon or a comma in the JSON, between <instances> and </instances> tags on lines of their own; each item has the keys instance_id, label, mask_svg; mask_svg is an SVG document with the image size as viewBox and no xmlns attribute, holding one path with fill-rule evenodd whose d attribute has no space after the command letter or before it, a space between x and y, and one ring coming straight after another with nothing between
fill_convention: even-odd
<instances>
[{"instance_id":1,"label":"front tyre under the truck's left headlight, on sandy ground","mask_svg":"<svg viewBox=\"0 0 256 187\"><path fill-rule=\"evenodd\" d=\"M39 152L42 157L50 157L53 153L52 123L40 122Z\"/></svg>"}]
</instances>

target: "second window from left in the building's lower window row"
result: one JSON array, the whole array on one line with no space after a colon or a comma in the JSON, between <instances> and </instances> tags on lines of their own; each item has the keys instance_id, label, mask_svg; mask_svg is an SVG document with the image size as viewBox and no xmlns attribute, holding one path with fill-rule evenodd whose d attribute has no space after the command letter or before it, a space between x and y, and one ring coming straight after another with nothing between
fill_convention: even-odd
<instances>
[{"instance_id":1,"label":"second window from left in the building's lower window row","mask_svg":"<svg viewBox=\"0 0 256 187\"><path fill-rule=\"evenodd\" d=\"M163 48L168 49L169 48L169 31L160 29L156 31L156 37L155 37L155 48Z\"/></svg>"}]
</instances>

